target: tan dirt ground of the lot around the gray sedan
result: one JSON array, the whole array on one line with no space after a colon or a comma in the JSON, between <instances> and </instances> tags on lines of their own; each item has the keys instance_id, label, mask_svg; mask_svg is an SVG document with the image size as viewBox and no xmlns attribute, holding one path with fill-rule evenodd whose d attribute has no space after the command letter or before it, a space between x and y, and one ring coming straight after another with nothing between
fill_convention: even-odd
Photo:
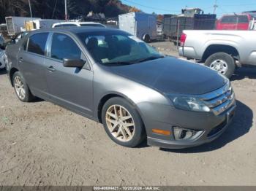
<instances>
[{"instance_id":1,"label":"tan dirt ground of the lot around the gray sedan","mask_svg":"<svg viewBox=\"0 0 256 191\"><path fill-rule=\"evenodd\" d=\"M154 45L177 55L169 42ZM0 71L0 186L256 185L256 69L239 69L232 84L236 117L216 141L182 150L129 149L97 122L48 101L18 101Z\"/></svg>"}]
</instances>

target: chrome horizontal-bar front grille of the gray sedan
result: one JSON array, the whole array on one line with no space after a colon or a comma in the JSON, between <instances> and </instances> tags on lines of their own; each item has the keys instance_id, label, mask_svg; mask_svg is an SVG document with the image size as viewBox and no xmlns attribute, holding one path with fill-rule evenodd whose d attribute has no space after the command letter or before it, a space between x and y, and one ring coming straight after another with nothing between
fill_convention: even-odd
<instances>
[{"instance_id":1,"label":"chrome horizontal-bar front grille of the gray sedan","mask_svg":"<svg viewBox=\"0 0 256 191\"><path fill-rule=\"evenodd\" d=\"M235 93L228 82L224 87L202 96L203 102L215 115L222 114L236 104Z\"/></svg>"}]
</instances>

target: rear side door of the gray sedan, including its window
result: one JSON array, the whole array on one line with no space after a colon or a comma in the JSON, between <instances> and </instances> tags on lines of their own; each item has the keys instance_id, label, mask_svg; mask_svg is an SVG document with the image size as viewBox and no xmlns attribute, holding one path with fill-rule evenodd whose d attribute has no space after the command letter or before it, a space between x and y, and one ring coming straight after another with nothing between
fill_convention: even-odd
<instances>
[{"instance_id":1,"label":"rear side door of the gray sedan, including its window","mask_svg":"<svg viewBox=\"0 0 256 191\"><path fill-rule=\"evenodd\" d=\"M45 98L48 89L45 79L45 55L48 33L29 36L18 52L18 67L30 90L35 95Z\"/></svg>"}]
</instances>

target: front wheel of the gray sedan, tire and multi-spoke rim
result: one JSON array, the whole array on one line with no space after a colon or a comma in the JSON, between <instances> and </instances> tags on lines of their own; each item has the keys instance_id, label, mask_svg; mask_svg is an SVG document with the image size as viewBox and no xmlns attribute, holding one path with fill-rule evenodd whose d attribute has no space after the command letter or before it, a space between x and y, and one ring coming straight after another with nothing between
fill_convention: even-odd
<instances>
[{"instance_id":1,"label":"front wheel of the gray sedan, tire and multi-spoke rim","mask_svg":"<svg viewBox=\"0 0 256 191\"><path fill-rule=\"evenodd\" d=\"M127 110L127 112L125 112L125 109ZM130 115L131 118L123 121L124 123L118 123L118 120L115 120L115 118L118 119L117 115L119 115L120 117L120 111L122 111L122 116L129 117ZM116 117L111 117L109 113L111 113L111 116L114 115ZM109 120L111 120L112 122L110 122ZM137 147L146 138L145 128L143 125L143 121L140 118L140 115L136 111L135 107L132 106L132 104L129 104L129 102L126 101L124 98L110 98L105 103L102 108L102 122L105 131L110 139L112 139L114 142L116 142L116 144L119 144L121 146ZM124 129L124 126L122 126L122 124L134 124L134 126L128 127L129 133L132 136L129 136L129 133L127 133L128 131ZM116 126L116 128L113 128L113 126ZM113 128L113 131L111 131L110 128ZM120 136L116 137L119 130L121 130L121 132L119 132ZM126 134L129 139L125 139L124 134Z\"/></svg>"}]
</instances>

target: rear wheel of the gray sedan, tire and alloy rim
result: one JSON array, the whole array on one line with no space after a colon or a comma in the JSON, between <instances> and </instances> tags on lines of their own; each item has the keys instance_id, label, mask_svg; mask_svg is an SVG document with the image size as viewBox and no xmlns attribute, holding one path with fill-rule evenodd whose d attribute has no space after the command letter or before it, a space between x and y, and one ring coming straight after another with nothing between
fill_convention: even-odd
<instances>
[{"instance_id":1,"label":"rear wheel of the gray sedan, tire and alloy rim","mask_svg":"<svg viewBox=\"0 0 256 191\"><path fill-rule=\"evenodd\" d=\"M18 82L21 82L21 84L19 84ZM30 90L29 90L29 86L26 84L25 79L23 78L23 76L20 74L19 71L16 71L15 74L13 74L12 76L12 84L13 87L15 89L15 94L17 95L17 97L19 98L20 101L23 102L30 102L34 100L34 95L31 94ZM18 90L18 85L21 87L23 85L22 90ZM18 93L20 92L20 93Z\"/></svg>"}]
</instances>

